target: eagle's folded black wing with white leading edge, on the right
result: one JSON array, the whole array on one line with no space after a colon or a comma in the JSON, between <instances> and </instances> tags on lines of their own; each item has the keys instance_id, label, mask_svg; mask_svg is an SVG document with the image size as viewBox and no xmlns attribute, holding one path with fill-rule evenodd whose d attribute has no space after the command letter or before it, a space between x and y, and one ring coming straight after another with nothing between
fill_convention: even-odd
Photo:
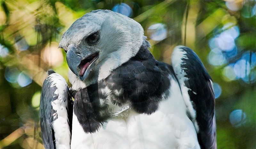
<instances>
[{"instance_id":1,"label":"eagle's folded black wing with white leading edge, on the right","mask_svg":"<svg viewBox=\"0 0 256 149\"><path fill-rule=\"evenodd\" d=\"M174 48L172 67L201 148L217 148L215 102L210 75L196 53L185 46Z\"/></svg>"}]
</instances>

